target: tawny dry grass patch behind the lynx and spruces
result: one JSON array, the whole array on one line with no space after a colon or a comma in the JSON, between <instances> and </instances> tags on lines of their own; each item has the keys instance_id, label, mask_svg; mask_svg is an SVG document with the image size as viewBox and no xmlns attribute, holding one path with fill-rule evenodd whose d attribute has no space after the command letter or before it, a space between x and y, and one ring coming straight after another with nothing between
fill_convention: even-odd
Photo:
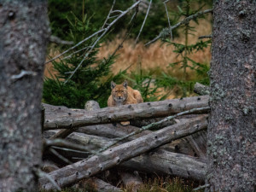
<instances>
[{"instance_id":1,"label":"tawny dry grass patch behind the lynx and spruces","mask_svg":"<svg viewBox=\"0 0 256 192\"><path fill-rule=\"evenodd\" d=\"M193 24L196 25L195 23ZM196 26L195 35L189 35L189 44L195 44L198 40L198 37L202 35L208 35L212 32L212 25L207 20L201 20L200 26ZM98 57L103 58L112 54L114 49L121 43L122 38L114 38L113 41L102 44L100 48ZM130 71L134 71L139 66L139 63L142 63L142 68L144 70L154 69L160 67L161 71L170 73L174 76L180 76L182 70L178 68L170 68L169 63L176 62L179 60L177 54L173 53L173 46L167 44L161 44L160 41L157 41L154 44L151 44L148 47L145 47L142 42L134 45L135 40L129 39L126 40L123 44L123 48L119 49L119 57L116 62L113 64L113 73L118 73L119 70L124 70L126 67L131 65ZM179 38L174 39L175 43L183 44L184 37L183 34ZM190 55L192 60L201 63L209 63L211 60L211 51L210 48L207 48L205 51L198 51L194 55Z\"/></svg>"}]
</instances>

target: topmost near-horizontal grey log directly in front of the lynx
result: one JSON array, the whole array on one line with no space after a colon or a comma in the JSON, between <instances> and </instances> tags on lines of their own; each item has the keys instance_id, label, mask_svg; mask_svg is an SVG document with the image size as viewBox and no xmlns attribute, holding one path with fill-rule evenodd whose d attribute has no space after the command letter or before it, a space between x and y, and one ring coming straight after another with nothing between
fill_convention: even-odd
<instances>
[{"instance_id":1,"label":"topmost near-horizontal grey log directly in front of the lynx","mask_svg":"<svg viewBox=\"0 0 256 192\"><path fill-rule=\"evenodd\" d=\"M192 96L160 102L143 102L120 107L102 108L94 111L70 109L44 104L44 130L75 129L86 125L150 119L170 116L193 108L208 106L209 96ZM204 113L206 111L201 111Z\"/></svg>"}]
</instances>

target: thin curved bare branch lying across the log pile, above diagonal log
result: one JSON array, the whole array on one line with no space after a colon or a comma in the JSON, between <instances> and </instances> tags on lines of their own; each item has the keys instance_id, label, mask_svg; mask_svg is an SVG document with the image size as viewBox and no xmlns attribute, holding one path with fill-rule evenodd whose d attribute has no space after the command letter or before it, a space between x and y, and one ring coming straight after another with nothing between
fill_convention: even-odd
<instances>
[{"instance_id":1,"label":"thin curved bare branch lying across the log pile, above diagonal log","mask_svg":"<svg viewBox=\"0 0 256 192\"><path fill-rule=\"evenodd\" d=\"M138 133L141 133L142 131L149 130L149 129L152 129L152 128L154 128L154 127L157 127L158 125L161 125L162 123L164 123L164 122L166 122L166 121L168 121L168 120L177 118L178 116L181 116L181 115L184 115L184 114L189 114L189 113L195 113L195 112L199 112L199 111L202 111L202 110L208 110L208 109L210 109L210 107L192 108L192 109L190 109L190 110L188 110L188 111L183 111L183 112L181 112L181 113L177 113L177 114L175 114L175 115L166 117L165 119L162 119L162 120L160 120L160 121L158 121L158 122L149 124L149 125L147 125L147 126L143 126L141 130L133 131L133 132L131 132L130 134L124 136L124 137L116 138L116 142L111 143L111 144L109 144L108 146L106 146L105 148L100 149L97 153L101 153L102 151L107 150L108 148L112 147L113 145L119 143L120 141L122 141L122 140L124 140L124 139L126 139L126 138L128 138L128 137L137 135Z\"/></svg>"}]
</instances>

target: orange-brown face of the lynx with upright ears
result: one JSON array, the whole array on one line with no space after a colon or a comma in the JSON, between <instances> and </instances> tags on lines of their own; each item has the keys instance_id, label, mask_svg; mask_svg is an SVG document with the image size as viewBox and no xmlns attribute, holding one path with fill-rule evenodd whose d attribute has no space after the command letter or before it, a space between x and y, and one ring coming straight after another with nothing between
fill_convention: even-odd
<instances>
[{"instance_id":1,"label":"orange-brown face of the lynx with upright ears","mask_svg":"<svg viewBox=\"0 0 256 192\"><path fill-rule=\"evenodd\" d=\"M125 82L124 84L115 84L111 82L111 88L113 100L119 105L122 105L128 96L127 82Z\"/></svg>"}]
</instances>

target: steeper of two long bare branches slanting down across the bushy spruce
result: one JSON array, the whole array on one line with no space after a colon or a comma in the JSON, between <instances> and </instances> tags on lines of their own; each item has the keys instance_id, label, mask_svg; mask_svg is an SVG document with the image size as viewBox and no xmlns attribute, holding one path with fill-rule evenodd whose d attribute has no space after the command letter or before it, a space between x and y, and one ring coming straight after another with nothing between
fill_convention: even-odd
<instances>
[{"instance_id":1,"label":"steeper of two long bare branches slanting down across the bushy spruce","mask_svg":"<svg viewBox=\"0 0 256 192\"><path fill-rule=\"evenodd\" d=\"M87 56L90 54L90 51L91 51L92 49L94 49L94 47L96 46L97 42L108 32L108 30L110 29L110 27L113 26L113 24L115 24L121 17L123 17L124 15L126 15L131 9L134 9L134 8L137 6L138 3L140 3L140 1L138 1L137 3L132 4L131 7L128 8L128 9L126 9L125 11L121 11L121 14L118 16L118 18L116 18L115 20L113 20L113 21L108 25L108 27L102 29L102 30L103 30L102 35L101 35L99 38L96 39L95 43L91 46L90 50L84 55L83 60L80 61L78 67L75 68L75 70L73 71L73 73L66 79L66 81L64 82L64 84L66 84L67 81L73 77L74 73L77 72L77 70L79 69L79 67L80 67L80 66L82 65L82 63L84 62L84 60L85 60L85 59L87 58ZM113 11L112 11L112 13L113 13Z\"/></svg>"}]
</instances>

